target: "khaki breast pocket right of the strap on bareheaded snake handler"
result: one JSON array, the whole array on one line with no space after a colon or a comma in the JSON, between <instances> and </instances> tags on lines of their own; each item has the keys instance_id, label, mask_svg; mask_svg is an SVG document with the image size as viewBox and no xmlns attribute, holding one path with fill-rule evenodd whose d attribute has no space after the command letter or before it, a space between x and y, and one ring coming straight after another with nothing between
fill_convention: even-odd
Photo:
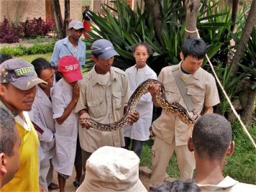
<instances>
[{"instance_id":1,"label":"khaki breast pocket right of the strap on bareheaded snake handler","mask_svg":"<svg viewBox=\"0 0 256 192\"><path fill-rule=\"evenodd\" d=\"M187 93L192 102L195 104L195 108L196 106L202 106L204 104L205 90L202 88L189 87Z\"/></svg>"}]
</instances>

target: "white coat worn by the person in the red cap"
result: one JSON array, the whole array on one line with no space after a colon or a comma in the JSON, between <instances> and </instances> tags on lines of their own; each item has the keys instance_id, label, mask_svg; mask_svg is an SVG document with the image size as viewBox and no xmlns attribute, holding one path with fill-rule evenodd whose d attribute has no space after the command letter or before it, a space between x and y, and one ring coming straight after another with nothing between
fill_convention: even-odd
<instances>
[{"instance_id":1,"label":"white coat worn by the person in the red cap","mask_svg":"<svg viewBox=\"0 0 256 192\"><path fill-rule=\"evenodd\" d=\"M60 79L60 81L54 85L52 90L52 110L54 119L63 115L72 99L72 90L73 87L64 79ZM76 113L74 113L74 109L63 124L60 125L54 120L56 148L52 165L57 172L65 175L71 175L74 166L77 124L78 118Z\"/></svg>"}]
</instances>

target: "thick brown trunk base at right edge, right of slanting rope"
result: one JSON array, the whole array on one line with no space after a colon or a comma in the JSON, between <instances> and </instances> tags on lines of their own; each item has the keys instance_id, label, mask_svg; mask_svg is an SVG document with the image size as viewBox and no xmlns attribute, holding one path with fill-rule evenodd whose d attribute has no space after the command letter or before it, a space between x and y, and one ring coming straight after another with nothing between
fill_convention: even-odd
<instances>
[{"instance_id":1,"label":"thick brown trunk base at right edge, right of slanting rope","mask_svg":"<svg viewBox=\"0 0 256 192\"><path fill-rule=\"evenodd\" d=\"M243 108L241 118L245 125L252 124L252 115L256 98L256 89L252 90L252 82L246 79L243 83L243 89L239 94L239 101Z\"/></svg>"}]
</instances>

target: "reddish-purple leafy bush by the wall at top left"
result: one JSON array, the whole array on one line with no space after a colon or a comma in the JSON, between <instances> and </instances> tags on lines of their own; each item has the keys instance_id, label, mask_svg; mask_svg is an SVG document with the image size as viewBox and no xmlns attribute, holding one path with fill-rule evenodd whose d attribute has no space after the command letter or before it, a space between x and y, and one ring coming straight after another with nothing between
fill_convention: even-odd
<instances>
[{"instance_id":1,"label":"reddish-purple leafy bush by the wall at top left","mask_svg":"<svg viewBox=\"0 0 256 192\"><path fill-rule=\"evenodd\" d=\"M9 22L4 17L0 24L0 43L16 43L19 39L35 38L36 36L47 35L54 28L54 22L46 18L45 20L39 17L38 19L27 19L25 22Z\"/></svg>"}]
</instances>

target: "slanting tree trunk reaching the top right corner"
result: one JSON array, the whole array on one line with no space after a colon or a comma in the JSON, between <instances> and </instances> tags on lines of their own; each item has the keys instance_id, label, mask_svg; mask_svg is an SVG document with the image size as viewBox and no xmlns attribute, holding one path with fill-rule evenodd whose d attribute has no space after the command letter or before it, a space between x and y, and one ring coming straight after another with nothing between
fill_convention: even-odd
<instances>
[{"instance_id":1,"label":"slanting tree trunk reaching the top right corner","mask_svg":"<svg viewBox=\"0 0 256 192\"><path fill-rule=\"evenodd\" d=\"M248 18L246 20L245 27L243 29L243 34L241 36L241 39L239 40L234 58L231 62L231 65L234 66L234 71L233 71L234 76L236 76L237 70L239 68L238 64L243 58L244 51L246 50L246 45L248 44L248 40L250 38L253 26L255 24L256 24L256 0L253 0Z\"/></svg>"}]
</instances>

